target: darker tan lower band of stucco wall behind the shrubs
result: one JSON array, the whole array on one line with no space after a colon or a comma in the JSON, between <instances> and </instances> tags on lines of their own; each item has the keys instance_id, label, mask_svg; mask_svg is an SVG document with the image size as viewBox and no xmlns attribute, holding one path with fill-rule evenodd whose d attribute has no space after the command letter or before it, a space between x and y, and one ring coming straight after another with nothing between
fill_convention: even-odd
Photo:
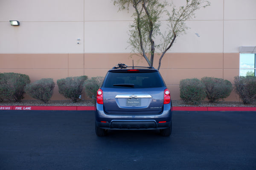
<instances>
[{"instance_id":1,"label":"darker tan lower band of stucco wall behind the shrubs","mask_svg":"<svg viewBox=\"0 0 256 170\"><path fill-rule=\"evenodd\" d=\"M155 55L154 67L157 68L158 55ZM131 54L0 54L0 72L16 72L29 75L31 82L42 78L57 79L86 75L88 77L105 76L117 63L147 66L144 59ZM172 99L179 97L181 79L216 77L227 79L239 75L239 53L167 53L160 68ZM86 96L85 96L86 98ZM30 99L26 96L26 99ZM52 100L64 99L58 94L55 85ZM234 92L226 101L237 101Z\"/></svg>"}]
</instances>

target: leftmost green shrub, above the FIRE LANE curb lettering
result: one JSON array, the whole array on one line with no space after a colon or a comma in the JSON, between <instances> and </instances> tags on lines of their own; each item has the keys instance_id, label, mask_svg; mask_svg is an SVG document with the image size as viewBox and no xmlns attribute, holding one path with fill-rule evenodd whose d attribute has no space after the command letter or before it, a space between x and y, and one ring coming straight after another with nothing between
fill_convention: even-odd
<instances>
[{"instance_id":1,"label":"leftmost green shrub, above the FIRE LANE curb lettering","mask_svg":"<svg viewBox=\"0 0 256 170\"><path fill-rule=\"evenodd\" d=\"M0 74L0 100L14 99L20 102L24 99L24 88L30 83L29 76L19 73L1 73Z\"/></svg>"}]
</instances>

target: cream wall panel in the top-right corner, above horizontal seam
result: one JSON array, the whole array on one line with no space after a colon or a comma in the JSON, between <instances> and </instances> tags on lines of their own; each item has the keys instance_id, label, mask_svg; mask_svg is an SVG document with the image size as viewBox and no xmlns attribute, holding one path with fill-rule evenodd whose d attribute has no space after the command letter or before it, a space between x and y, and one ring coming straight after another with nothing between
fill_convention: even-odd
<instances>
[{"instance_id":1,"label":"cream wall panel in the top-right corner, above horizontal seam","mask_svg":"<svg viewBox=\"0 0 256 170\"><path fill-rule=\"evenodd\" d=\"M224 19L256 20L255 8L256 0L224 0Z\"/></svg>"}]
</instances>

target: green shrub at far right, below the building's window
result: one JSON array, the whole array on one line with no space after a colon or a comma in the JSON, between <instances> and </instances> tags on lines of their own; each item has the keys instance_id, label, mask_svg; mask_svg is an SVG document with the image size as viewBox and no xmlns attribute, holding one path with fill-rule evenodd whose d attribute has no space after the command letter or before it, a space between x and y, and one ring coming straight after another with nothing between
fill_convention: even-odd
<instances>
[{"instance_id":1,"label":"green shrub at far right, below the building's window","mask_svg":"<svg viewBox=\"0 0 256 170\"><path fill-rule=\"evenodd\" d=\"M256 77L235 77L235 91L244 104L250 104L256 100Z\"/></svg>"}]
</instances>

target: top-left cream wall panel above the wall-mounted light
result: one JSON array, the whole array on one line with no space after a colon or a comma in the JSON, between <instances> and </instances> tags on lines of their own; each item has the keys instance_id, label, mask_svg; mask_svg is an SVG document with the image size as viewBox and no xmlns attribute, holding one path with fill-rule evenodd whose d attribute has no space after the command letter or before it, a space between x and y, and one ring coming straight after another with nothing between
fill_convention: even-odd
<instances>
[{"instance_id":1,"label":"top-left cream wall panel above the wall-mounted light","mask_svg":"<svg viewBox=\"0 0 256 170\"><path fill-rule=\"evenodd\" d=\"M0 0L0 21L83 21L84 0Z\"/></svg>"}]
</instances>

